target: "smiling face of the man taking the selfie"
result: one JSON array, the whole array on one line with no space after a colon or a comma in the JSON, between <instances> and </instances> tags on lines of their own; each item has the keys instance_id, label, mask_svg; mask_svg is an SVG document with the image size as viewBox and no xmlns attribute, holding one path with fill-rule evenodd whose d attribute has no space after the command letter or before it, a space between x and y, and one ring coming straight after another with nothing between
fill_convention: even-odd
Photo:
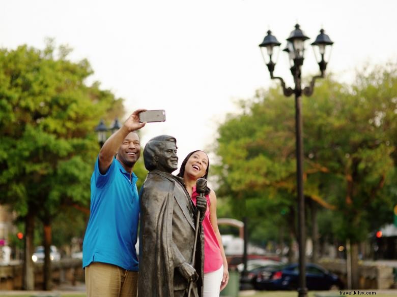
<instances>
[{"instance_id":1,"label":"smiling face of the man taking the selfie","mask_svg":"<svg viewBox=\"0 0 397 297\"><path fill-rule=\"evenodd\" d=\"M123 140L118 152L117 159L126 167L132 168L140 156L140 142L136 133L130 132Z\"/></svg>"}]
</instances>

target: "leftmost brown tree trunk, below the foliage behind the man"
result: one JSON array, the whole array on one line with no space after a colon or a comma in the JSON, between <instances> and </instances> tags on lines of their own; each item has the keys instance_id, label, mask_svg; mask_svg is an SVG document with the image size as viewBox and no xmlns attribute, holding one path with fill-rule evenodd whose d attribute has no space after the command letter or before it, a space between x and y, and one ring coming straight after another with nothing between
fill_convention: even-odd
<instances>
[{"instance_id":1,"label":"leftmost brown tree trunk, below the foliage behind the man","mask_svg":"<svg viewBox=\"0 0 397 297\"><path fill-rule=\"evenodd\" d=\"M23 288L25 290L35 289L33 255L33 237L35 229L35 215L28 211L25 217L25 250L23 261Z\"/></svg>"}]
</instances>

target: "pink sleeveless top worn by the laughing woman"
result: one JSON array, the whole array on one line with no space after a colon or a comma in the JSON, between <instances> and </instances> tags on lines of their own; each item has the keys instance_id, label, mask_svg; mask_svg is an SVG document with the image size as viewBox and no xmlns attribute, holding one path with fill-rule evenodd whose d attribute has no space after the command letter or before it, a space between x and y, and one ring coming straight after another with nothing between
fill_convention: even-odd
<instances>
[{"instance_id":1,"label":"pink sleeveless top worn by the laughing woman","mask_svg":"<svg viewBox=\"0 0 397 297\"><path fill-rule=\"evenodd\" d=\"M193 193L191 200L194 205L196 205L196 197L198 196L196 192L196 187L193 187ZM220 247L218 239L216 238L214 229L212 228L210 221L210 196L206 195L207 199L207 210L206 216L203 221L204 227L204 273L213 272L218 270L222 264L223 259L220 253Z\"/></svg>"}]
</instances>

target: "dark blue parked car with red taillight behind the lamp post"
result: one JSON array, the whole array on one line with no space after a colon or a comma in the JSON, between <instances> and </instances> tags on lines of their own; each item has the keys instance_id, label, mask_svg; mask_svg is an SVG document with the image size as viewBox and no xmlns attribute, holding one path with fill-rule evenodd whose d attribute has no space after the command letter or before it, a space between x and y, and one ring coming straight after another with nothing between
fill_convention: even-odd
<instances>
[{"instance_id":1,"label":"dark blue parked car with red taillight behind the lamp post","mask_svg":"<svg viewBox=\"0 0 397 297\"><path fill-rule=\"evenodd\" d=\"M295 290L299 286L299 266L292 264L258 271L253 279L257 290ZM330 290L343 288L342 281L323 267L306 265L306 287L309 290Z\"/></svg>"}]
</instances>

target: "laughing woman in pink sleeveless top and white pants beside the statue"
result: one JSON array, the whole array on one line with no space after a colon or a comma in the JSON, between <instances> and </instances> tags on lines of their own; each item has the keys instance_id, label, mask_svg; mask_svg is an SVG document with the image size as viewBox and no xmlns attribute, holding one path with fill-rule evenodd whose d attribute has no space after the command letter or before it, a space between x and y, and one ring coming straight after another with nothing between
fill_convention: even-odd
<instances>
[{"instance_id":1,"label":"laughing woman in pink sleeveless top and white pants beside the statue","mask_svg":"<svg viewBox=\"0 0 397 297\"><path fill-rule=\"evenodd\" d=\"M207 179L210 162L204 151L193 151L186 156L178 173L185 181L186 189L193 203L196 203L196 181ZM219 292L228 284L228 262L224 254L216 219L216 195L208 188L206 193L207 211L203 220L204 227L204 297L218 297Z\"/></svg>"}]
</instances>

